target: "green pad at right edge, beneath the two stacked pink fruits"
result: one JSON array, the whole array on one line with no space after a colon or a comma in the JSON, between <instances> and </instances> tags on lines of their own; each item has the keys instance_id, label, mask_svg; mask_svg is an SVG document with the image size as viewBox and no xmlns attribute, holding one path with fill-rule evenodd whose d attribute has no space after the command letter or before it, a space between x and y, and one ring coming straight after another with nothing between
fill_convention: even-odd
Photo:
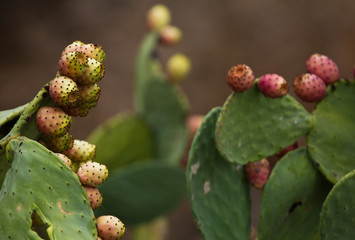
<instances>
[{"instance_id":1,"label":"green pad at right edge, beneath the two stacked pink fruits","mask_svg":"<svg viewBox=\"0 0 355 240\"><path fill-rule=\"evenodd\" d=\"M314 110L314 127L307 136L316 166L335 183L355 169L355 81L339 81Z\"/></svg>"}]
</instances>

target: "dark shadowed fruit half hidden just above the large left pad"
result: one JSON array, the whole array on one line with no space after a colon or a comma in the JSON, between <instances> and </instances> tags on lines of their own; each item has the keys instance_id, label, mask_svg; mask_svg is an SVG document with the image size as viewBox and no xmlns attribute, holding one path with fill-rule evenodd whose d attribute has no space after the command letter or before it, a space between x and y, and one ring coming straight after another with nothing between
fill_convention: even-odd
<instances>
[{"instance_id":1,"label":"dark shadowed fruit half hidden just above the large left pad","mask_svg":"<svg viewBox=\"0 0 355 240\"><path fill-rule=\"evenodd\" d=\"M53 152L64 152L73 147L74 138L69 133L64 134L60 137L51 137L48 135L43 135L41 140L44 145Z\"/></svg>"}]
</instances>

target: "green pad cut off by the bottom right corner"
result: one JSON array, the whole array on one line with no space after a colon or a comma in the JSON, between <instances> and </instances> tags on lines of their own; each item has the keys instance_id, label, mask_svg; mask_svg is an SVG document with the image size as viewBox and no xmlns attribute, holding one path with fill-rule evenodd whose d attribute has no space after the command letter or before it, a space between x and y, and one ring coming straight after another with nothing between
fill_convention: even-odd
<instances>
[{"instance_id":1,"label":"green pad cut off by the bottom right corner","mask_svg":"<svg viewBox=\"0 0 355 240\"><path fill-rule=\"evenodd\" d=\"M355 170L341 178L324 201L320 235L322 240L353 240L355 236Z\"/></svg>"}]
</instances>

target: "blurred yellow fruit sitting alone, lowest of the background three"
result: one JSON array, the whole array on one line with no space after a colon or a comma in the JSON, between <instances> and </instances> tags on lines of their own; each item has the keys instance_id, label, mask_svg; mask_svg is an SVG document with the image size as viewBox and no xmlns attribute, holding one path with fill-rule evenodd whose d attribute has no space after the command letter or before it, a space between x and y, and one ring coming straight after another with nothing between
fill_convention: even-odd
<instances>
[{"instance_id":1,"label":"blurred yellow fruit sitting alone, lowest of the background three","mask_svg":"<svg viewBox=\"0 0 355 240\"><path fill-rule=\"evenodd\" d=\"M190 69L190 59L181 53L173 55L167 62L167 73L172 83L180 83L184 80Z\"/></svg>"}]
</instances>

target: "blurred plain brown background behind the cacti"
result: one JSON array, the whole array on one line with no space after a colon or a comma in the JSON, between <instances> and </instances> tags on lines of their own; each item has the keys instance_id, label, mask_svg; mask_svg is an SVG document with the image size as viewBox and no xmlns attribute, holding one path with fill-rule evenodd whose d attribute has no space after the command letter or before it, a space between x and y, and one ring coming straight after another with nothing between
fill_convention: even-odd
<instances>
[{"instance_id":1,"label":"blurred plain brown background behind the cacti","mask_svg":"<svg viewBox=\"0 0 355 240\"><path fill-rule=\"evenodd\" d=\"M86 0L0 1L0 110L30 101L57 71L63 48L75 40L101 43L106 73L97 107L75 119L71 133L85 138L118 112L133 109L134 60L146 33L146 12L167 5L183 40L160 49L162 59L182 52L192 72L182 84L192 113L220 106L231 90L226 73L239 63L256 76L278 73L292 83L318 52L332 58L340 75L355 63L355 1L281 0ZM293 91L291 90L293 95ZM311 106L307 106L311 107ZM259 192L253 191L254 201ZM253 209L257 224L258 209ZM170 217L168 239L201 239L185 201Z\"/></svg>"}]
</instances>

